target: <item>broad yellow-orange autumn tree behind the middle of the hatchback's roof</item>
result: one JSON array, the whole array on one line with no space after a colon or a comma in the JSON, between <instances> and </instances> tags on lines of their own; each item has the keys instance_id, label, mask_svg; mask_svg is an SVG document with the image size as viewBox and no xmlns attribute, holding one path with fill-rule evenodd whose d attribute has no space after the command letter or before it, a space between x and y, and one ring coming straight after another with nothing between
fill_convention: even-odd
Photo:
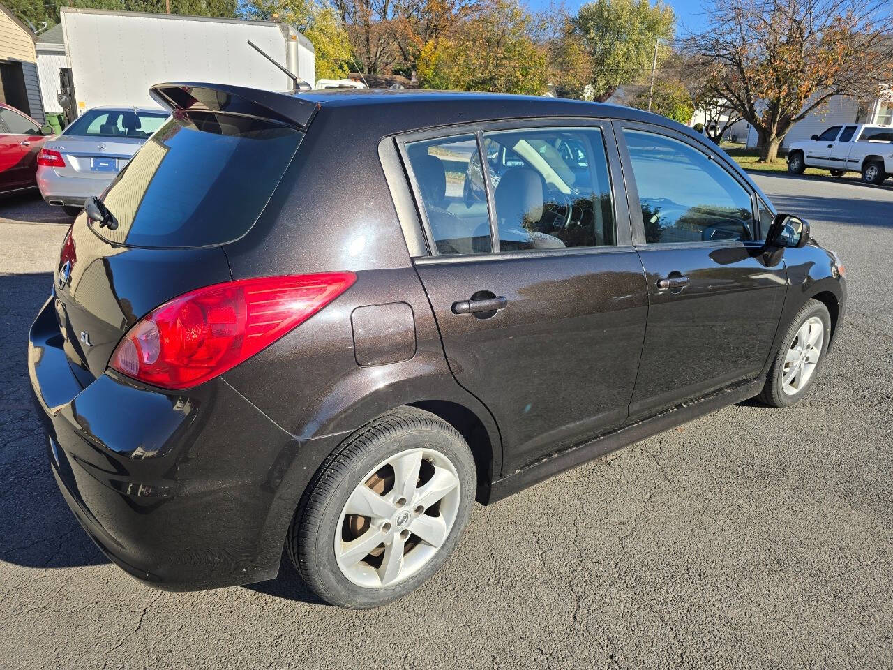
<instances>
[{"instance_id":1,"label":"broad yellow-orange autumn tree behind the middle of the hatchback's roof","mask_svg":"<svg viewBox=\"0 0 893 670\"><path fill-rule=\"evenodd\" d=\"M493 0L421 49L424 88L541 95L549 79L547 47L534 18L516 0Z\"/></svg>"}]
</instances>

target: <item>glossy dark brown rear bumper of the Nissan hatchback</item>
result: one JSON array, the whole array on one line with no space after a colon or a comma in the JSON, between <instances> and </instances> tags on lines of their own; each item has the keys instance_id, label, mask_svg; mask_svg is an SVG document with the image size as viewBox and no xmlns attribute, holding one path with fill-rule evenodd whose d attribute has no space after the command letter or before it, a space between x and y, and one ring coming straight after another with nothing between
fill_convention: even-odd
<instances>
[{"instance_id":1,"label":"glossy dark brown rear bumper of the Nissan hatchback","mask_svg":"<svg viewBox=\"0 0 893 670\"><path fill-rule=\"evenodd\" d=\"M298 443L219 379L165 393L106 373L81 387L63 347L51 298L29 335L34 401L55 480L105 555L163 590L274 577L303 490L288 472L327 440Z\"/></svg>"}]
</instances>

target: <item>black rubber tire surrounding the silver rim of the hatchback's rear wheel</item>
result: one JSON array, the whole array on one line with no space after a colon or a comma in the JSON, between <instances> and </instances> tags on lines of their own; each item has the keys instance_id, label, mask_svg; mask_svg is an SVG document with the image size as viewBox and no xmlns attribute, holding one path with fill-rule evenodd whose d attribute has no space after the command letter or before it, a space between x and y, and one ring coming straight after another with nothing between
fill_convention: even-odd
<instances>
[{"instance_id":1,"label":"black rubber tire surrounding the silver rim of the hatchback's rear wheel","mask_svg":"<svg viewBox=\"0 0 893 670\"><path fill-rule=\"evenodd\" d=\"M404 581L376 588L357 585L347 579L335 556L336 530L345 532L339 527L341 513L373 468L416 447L438 451L455 467L459 503L453 527L428 562ZM474 458L462 436L430 412L398 407L353 433L313 475L288 529L288 556L307 586L325 602L352 609L384 605L420 587L447 562L468 524L476 485Z\"/></svg>"}]
</instances>

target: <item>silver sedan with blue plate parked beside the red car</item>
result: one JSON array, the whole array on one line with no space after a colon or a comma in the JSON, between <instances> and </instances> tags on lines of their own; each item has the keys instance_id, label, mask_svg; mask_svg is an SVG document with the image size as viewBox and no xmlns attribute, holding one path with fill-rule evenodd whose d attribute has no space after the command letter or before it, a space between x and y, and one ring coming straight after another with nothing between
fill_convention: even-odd
<instances>
[{"instance_id":1,"label":"silver sedan with blue plate parked beside the red car","mask_svg":"<svg viewBox=\"0 0 893 670\"><path fill-rule=\"evenodd\" d=\"M161 109L96 107L82 113L38 154L38 186L49 205L76 216L98 196L167 119Z\"/></svg>"}]
</instances>

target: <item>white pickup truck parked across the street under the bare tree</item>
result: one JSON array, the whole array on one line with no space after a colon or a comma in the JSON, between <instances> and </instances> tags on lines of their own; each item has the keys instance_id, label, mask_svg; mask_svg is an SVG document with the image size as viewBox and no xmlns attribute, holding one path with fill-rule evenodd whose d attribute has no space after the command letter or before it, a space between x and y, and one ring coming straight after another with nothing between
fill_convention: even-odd
<instances>
[{"instance_id":1,"label":"white pickup truck parked across the street under the bare tree","mask_svg":"<svg viewBox=\"0 0 893 670\"><path fill-rule=\"evenodd\" d=\"M863 181L880 184L893 176L893 126L831 126L812 139L791 143L788 172L802 174L807 167L828 168L835 177L862 172Z\"/></svg>"}]
</instances>

